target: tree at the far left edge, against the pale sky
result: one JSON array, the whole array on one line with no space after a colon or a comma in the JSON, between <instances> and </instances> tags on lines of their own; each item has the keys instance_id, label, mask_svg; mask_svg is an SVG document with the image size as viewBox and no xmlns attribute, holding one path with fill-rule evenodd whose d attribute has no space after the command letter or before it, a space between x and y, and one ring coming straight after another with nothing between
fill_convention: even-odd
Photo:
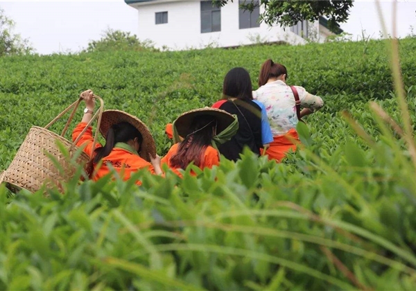
<instances>
[{"instance_id":1,"label":"tree at the far left edge, against the pale sky","mask_svg":"<svg viewBox=\"0 0 416 291\"><path fill-rule=\"evenodd\" d=\"M32 53L34 50L28 44L28 39L22 39L19 34L13 34L15 21L9 19L0 8L0 57L3 55L18 55Z\"/></svg>"}]
</instances>

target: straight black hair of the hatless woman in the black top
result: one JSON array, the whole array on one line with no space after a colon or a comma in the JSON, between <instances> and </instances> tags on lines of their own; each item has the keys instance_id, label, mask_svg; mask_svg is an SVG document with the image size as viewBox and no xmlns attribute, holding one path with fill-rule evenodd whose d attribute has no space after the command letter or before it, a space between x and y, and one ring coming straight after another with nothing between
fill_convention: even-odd
<instances>
[{"instance_id":1,"label":"straight black hair of the hatless woman in the black top","mask_svg":"<svg viewBox=\"0 0 416 291\"><path fill-rule=\"evenodd\" d=\"M223 99L239 98L252 100L252 82L250 74L244 68L231 69L224 78Z\"/></svg>"}]
</instances>

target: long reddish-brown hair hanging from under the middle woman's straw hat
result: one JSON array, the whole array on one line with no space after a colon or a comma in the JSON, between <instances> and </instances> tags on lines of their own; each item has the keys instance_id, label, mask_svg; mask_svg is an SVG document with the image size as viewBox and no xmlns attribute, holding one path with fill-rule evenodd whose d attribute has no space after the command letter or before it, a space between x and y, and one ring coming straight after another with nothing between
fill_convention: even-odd
<instances>
[{"instance_id":1,"label":"long reddish-brown hair hanging from under the middle woman's straw hat","mask_svg":"<svg viewBox=\"0 0 416 291\"><path fill-rule=\"evenodd\" d=\"M191 162L200 167L203 162L204 150L211 145L216 128L214 116L203 115L193 118L190 132L177 148L177 153L171 157L173 168L185 169Z\"/></svg>"}]
</instances>

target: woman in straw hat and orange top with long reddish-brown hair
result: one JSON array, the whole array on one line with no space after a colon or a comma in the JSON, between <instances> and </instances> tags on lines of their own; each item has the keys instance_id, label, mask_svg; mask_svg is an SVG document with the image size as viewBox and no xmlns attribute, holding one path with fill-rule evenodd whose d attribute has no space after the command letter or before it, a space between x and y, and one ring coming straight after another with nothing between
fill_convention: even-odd
<instances>
[{"instance_id":1,"label":"woman in straw hat and orange top with long reddish-brown hair","mask_svg":"<svg viewBox=\"0 0 416 291\"><path fill-rule=\"evenodd\" d=\"M200 169L217 166L220 163L215 144L218 135L228 131L231 136L237 127L236 118L223 110L207 107L185 112L173 123L173 139L179 142L172 145L162 164L167 164L180 177L179 169L184 170L191 163Z\"/></svg>"}]
</instances>

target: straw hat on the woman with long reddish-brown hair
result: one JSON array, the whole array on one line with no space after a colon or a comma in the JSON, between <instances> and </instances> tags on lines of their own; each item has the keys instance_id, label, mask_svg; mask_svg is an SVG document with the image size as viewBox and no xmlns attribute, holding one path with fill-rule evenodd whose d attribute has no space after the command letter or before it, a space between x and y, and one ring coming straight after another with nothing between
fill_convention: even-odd
<instances>
[{"instance_id":1,"label":"straw hat on the woman with long reddish-brown hair","mask_svg":"<svg viewBox=\"0 0 416 291\"><path fill-rule=\"evenodd\" d=\"M223 132L229 125L231 125L235 118L228 112L216 109L212 107L204 107L204 108L198 108L193 109L189 112L185 112L181 114L175 121L175 127L177 130L177 134L179 134L182 137L186 137L188 134L191 133L191 124L194 122L195 118L198 118L198 116L203 115L209 115L214 116L217 120L217 134L220 134L220 132Z\"/></svg>"}]
</instances>

